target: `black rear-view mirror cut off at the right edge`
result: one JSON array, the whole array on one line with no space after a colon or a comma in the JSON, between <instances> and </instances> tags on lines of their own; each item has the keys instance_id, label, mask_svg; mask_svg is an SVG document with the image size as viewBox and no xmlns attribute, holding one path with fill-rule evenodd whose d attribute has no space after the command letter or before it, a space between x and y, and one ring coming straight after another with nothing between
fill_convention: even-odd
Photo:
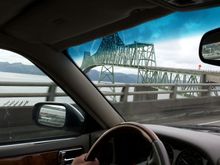
<instances>
[{"instance_id":1,"label":"black rear-view mirror cut off at the right edge","mask_svg":"<svg viewBox=\"0 0 220 165\"><path fill-rule=\"evenodd\" d=\"M204 34L199 46L199 56L204 63L220 65L220 28Z\"/></svg>"}]
</instances>

